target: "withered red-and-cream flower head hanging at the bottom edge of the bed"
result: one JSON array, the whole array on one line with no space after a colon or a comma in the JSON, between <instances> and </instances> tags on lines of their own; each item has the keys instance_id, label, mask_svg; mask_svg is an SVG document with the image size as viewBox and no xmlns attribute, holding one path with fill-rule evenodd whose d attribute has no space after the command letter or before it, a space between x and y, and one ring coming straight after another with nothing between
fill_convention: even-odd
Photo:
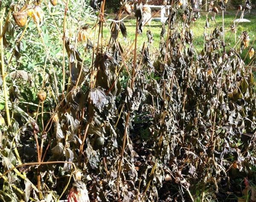
<instances>
[{"instance_id":1,"label":"withered red-and-cream flower head hanging at the bottom edge of the bed","mask_svg":"<svg viewBox=\"0 0 256 202\"><path fill-rule=\"evenodd\" d=\"M78 180L73 183L70 193L67 197L67 202L90 202L88 191L85 184Z\"/></svg>"}]
</instances>

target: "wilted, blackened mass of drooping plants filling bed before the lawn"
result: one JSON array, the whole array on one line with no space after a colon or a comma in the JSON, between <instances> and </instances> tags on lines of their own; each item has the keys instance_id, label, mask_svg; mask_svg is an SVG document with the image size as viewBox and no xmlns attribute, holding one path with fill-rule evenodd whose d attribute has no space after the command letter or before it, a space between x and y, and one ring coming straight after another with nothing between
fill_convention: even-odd
<instances>
[{"instance_id":1,"label":"wilted, blackened mass of drooping plants filling bed before the lawn","mask_svg":"<svg viewBox=\"0 0 256 202\"><path fill-rule=\"evenodd\" d=\"M133 3L136 34L143 34L140 0L122 1L119 12L130 14ZM203 50L195 50L190 24L198 14L191 5L180 9L180 3L173 4L163 23L154 61L154 33L146 31L143 46L128 55L131 47L122 43L128 35L125 23L120 13L107 23L105 1L90 1L99 12L99 32L86 26L85 33L78 21L72 22L77 33L48 36L54 18L41 27L27 22L42 36L39 45L32 41L35 36L14 38L29 30L7 21L4 64L17 70L9 66L7 87L0 90L1 200L50 202L84 194L91 201L206 201L244 194L233 181L255 176L253 74L240 53L225 44L220 26L204 33ZM221 1L222 10L224 5ZM209 27L213 21L206 19ZM112 26L111 40L102 35L105 26ZM47 37L56 42L53 48ZM59 38L64 42L58 44ZM98 39L90 48L89 38ZM249 42L244 31L239 52L251 50ZM27 69L20 65L31 48L45 48L40 57L30 52L34 72L29 61ZM1 85L5 79L4 74ZM253 190L246 185L245 191Z\"/></svg>"}]
</instances>

